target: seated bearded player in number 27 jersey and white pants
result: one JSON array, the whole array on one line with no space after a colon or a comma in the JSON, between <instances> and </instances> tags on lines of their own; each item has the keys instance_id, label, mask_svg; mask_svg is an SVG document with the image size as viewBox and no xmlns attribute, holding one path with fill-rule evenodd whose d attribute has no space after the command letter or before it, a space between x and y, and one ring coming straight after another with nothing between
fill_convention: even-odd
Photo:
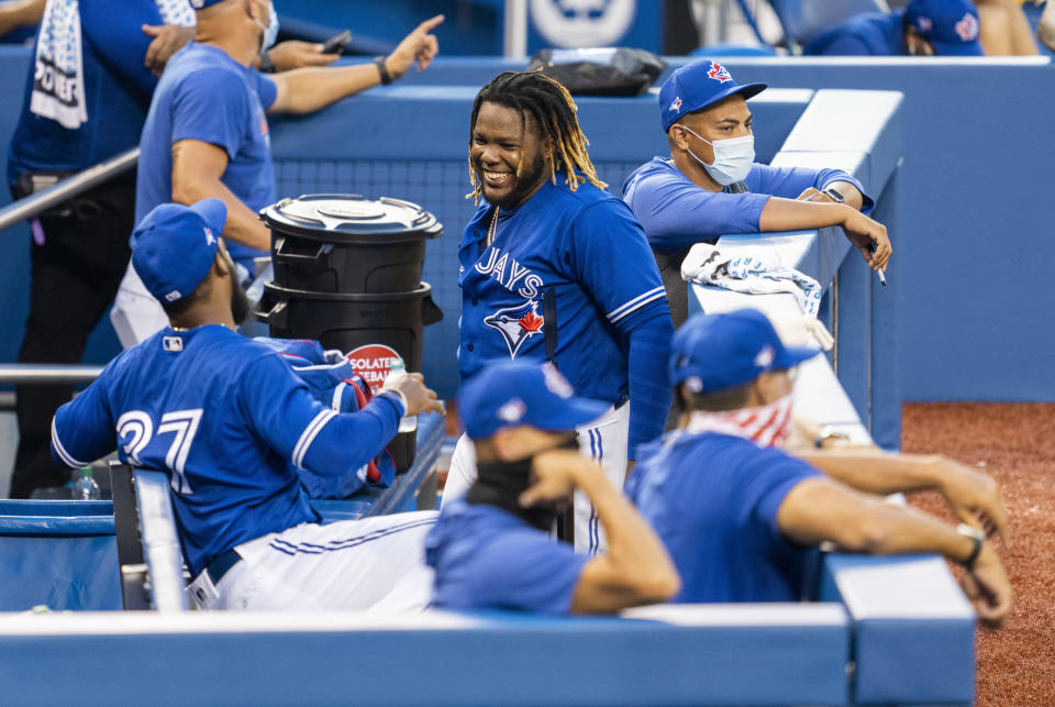
<instances>
[{"instance_id":1,"label":"seated bearded player in number 27 jersey and white pants","mask_svg":"<svg viewBox=\"0 0 1055 707\"><path fill-rule=\"evenodd\" d=\"M114 358L52 423L52 454L82 466L118 449L164 470L200 608L421 609L432 511L320 526L295 467L359 468L399 418L440 410L411 374L356 413L316 401L278 353L234 331L246 311L219 241L219 199L163 205L133 234L132 263L170 327Z\"/></svg>"}]
</instances>

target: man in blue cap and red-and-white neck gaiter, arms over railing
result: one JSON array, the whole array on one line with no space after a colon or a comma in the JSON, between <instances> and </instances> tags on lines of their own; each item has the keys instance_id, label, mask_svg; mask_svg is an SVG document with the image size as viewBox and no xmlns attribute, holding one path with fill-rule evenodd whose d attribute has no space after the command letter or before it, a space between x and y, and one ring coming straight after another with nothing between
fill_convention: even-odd
<instances>
[{"instance_id":1,"label":"man in blue cap and red-and-white neck gaiter, arms over railing","mask_svg":"<svg viewBox=\"0 0 1055 707\"><path fill-rule=\"evenodd\" d=\"M815 453L808 463L784 453L789 369L819 351L785 347L758 311L697 314L670 349L679 426L643 451L626 491L681 574L676 601L795 601L809 550L829 541L940 553L964 567L979 618L1003 621L1011 586L987 542L1006 533L992 479L933 457ZM880 497L922 488L940 490L964 522L954 529Z\"/></svg>"}]
</instances>

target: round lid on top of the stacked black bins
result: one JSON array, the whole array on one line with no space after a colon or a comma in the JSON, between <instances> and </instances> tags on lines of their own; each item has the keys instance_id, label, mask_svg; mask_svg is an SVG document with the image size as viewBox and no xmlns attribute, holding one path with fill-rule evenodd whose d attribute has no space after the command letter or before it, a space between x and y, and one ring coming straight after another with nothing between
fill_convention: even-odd
<instances>
[{"instance_id":1,"label":"round lid on top of the stacked black bins","mask_svg":"<svg viewBox=\"0 0 1055 707\"><path fill-rule=\"evenodd\" d=\"M260 211L260 219L277 231L326 237L415 235L432 239L443 232L436 217L401 199L367 199L357 194L310 194L282 199Z\"/></svg>"}]
</instances>

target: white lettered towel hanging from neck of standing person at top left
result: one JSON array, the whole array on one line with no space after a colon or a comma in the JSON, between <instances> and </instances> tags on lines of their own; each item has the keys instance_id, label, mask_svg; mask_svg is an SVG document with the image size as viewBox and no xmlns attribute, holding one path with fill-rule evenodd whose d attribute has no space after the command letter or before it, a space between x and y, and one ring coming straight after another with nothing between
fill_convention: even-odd
<instances>
[{"instance_id":1,"label":"white lettered towel hanging from neck of standing person at top left","mask_svg":"<svg viewBox=\"0 0 1055 707\"><path fill-rule=\"evenodd\" d=\"M156 0L165 24L195 25L188 0ZM41 19L30 111L77 130L88 122L78 0L47 0Z\"/></svg>"}]
</instances>

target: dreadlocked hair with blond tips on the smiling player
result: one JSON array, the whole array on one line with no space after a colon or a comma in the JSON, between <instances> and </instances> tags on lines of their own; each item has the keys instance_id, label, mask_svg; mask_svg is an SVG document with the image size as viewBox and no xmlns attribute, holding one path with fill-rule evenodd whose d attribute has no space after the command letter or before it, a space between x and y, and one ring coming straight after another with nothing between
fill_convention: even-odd
<instances>
[{"instance_id":1,"label":"dreadlocked hair with blond tips on the smiling player","mask_svg":"<svg viewBox=\"0 0 1055 707\"><path fill-rule=\"evenodd\" d=\"M473 131L476 129L476 119L484 103L497 103L511 108L520 113L521 130L528 129L528 114L531 114L542 131L543 139L549 141L549 178L557 184L557 168L564 169L566 183L571 191L579 184L589 181L598 189L608 185L598 179L597 169L590 162L586 147L590 141L582 134L579 121L575 115L576 106L571 93L559 81L555 81L534 71L503 71L492 78L487 86L480 89L473 101L473 118L469 120L469 146L473 145ZM559 162L559 165L557 164ZM517 164L517 176L520 176L524 164L524 153L520 153ZM576 172L580 174L576 174ZM473 166L473 156L469 155L469 184L473 191L465 195L479 203L484 185L476 175Z\"/></svg>"}]
</instances>

